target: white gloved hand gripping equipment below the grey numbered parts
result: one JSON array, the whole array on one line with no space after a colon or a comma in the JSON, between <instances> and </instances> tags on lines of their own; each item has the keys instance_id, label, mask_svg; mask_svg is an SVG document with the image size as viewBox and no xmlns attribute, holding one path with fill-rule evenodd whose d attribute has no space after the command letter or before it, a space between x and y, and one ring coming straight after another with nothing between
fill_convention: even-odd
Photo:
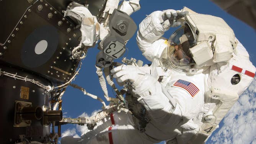
<instances>
[{"instance_id":1,"label":"white gloved hand gripping equipment below the grey numbered parts","mask_svg":"<svg viewBox=\"0 0 256 144\"><path fill-rule=\"evenodd\" d=\"M113 77L117 79L117 82L125 85L126 82L130 82L135 88L146 77L146 73L133 65L120 65L110 71Z\"/></svg>"}]
</instances>

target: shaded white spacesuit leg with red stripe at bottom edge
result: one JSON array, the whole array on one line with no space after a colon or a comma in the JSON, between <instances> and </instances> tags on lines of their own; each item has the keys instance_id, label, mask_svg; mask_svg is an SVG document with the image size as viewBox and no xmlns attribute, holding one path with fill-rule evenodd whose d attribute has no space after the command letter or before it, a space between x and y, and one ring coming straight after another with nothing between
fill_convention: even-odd
<instances>
[{"instance_id":1,"label":"shaded white spacesuit leg with red stripe at bottom edge","mask_svg":"<svg viewBox=\"0 0 256 144\"><path fill-rule=\"evenodd\" d=\"M139 132L133 124L132 116L124 112L114 112L103 123L81 137L81 144L150 144L146 134Z\"/></svg>"}]
</instances>

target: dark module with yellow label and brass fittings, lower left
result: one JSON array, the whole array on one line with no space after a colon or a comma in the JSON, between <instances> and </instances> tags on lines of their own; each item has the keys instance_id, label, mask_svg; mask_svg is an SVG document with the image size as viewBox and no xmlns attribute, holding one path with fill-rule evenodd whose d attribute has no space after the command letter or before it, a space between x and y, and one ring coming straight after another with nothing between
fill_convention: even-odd
<instances>
[{"instance_id":1,"label":"dark module with yellow label and brass fittings, lower left","mask_svg":"<svg viewBox=\"0 0 256 144\"><path fill-rule=\"evenodd\" d=\"M38 75L7 67L1 63L0 65L2 72L20 75L51 86L51 82ZM20 141L19 135L24 135L31 141L48 142L50 125L43 124L42 117L43 108L51 108L51 93L34 83L3 74L0 76L0 92L1 115L3 116L0 126L5 129L2 143L13 144Z\"/></svg>"}]
</instances>

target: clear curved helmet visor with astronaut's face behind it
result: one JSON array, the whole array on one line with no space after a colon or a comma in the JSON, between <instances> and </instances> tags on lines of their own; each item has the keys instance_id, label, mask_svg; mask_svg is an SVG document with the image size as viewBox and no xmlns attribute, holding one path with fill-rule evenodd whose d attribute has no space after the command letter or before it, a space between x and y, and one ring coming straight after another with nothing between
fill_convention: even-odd
<instances>
[{"instance_id":1,"label":"clear curved helmet visor with astronaut's face behind it","mask_svg":"<svg viewBox=\"0 0 256 144\"><path fill-rule=\"evenodd\" d=\"M168 61L175 66L186 66L195 63L190 48L196 45L194 35L187 24L174 31L168 40Z\"/></svg>"}]
</instances>

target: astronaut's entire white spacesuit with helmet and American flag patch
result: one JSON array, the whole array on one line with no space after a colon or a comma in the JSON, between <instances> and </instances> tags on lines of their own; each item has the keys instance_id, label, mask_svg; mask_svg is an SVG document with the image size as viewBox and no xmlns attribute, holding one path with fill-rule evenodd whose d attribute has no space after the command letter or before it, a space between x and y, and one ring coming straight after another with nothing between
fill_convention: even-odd
<instances>
[{"instance_id":1,"label":"astronaut's entire white spacesuit with helmet and American flag patch","mask_svg":"<svg viewBox=\"0 0 256 144\"><path fill-rule=\"evenodd\" d=\"M140 118L136 110L112 113L74 143L202 143L218 126L256 69L225 21L186 10L155 11L139 25L137 43L151 66L111 70L131 84ZM180 24L169 40L162 38Z\"/></svg>"}]
</instances>

